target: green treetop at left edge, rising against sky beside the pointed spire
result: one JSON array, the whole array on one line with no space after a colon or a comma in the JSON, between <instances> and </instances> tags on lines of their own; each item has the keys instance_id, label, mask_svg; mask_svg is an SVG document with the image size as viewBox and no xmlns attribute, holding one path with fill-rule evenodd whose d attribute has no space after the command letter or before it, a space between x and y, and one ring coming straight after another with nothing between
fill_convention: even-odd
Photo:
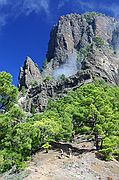
<instances>
[{"instance_id":1,"label":"green treetop at left edge, rising against sky beside the pointed spire","mask_svg":"<svg viewBox=\"0 0 119 180\"><path fill-rule=\"evenodd\" d=\"M17 101L17 88L12 85L12 76L0 73L0 110L9 110Z\"/></svg>"}]
</instances>

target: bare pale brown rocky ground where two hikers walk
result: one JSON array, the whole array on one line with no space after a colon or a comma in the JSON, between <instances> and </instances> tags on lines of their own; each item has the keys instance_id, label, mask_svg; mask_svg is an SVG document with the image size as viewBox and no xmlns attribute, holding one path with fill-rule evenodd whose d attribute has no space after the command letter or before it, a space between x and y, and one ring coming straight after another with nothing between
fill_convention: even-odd
<instances>
[{"instance_id":1,"label":"bare pale brown rocky ground where two hikers walk","mask_svg":"<svg viewBox=\"0 0 119 180\"><path fill-rule=\"evenodd\" d=\"M60 148L64 150L62 158ZM28 165L19 175L6 175L0 180L119 180L119 162L97 159L91 142L56 144L49 153L37 152Z\"/></svg>"}]
</instances>

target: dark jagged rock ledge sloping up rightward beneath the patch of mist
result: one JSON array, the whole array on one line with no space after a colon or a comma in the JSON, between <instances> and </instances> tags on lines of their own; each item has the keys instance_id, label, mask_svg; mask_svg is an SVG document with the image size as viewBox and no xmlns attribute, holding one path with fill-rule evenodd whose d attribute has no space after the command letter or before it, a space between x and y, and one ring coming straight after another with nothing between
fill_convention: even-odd
<instances>
[{"instance_id":1,"label":"dark jagged rock ledge sloping up rightward beneath the patch of mist","mask_svg":"<svg viewBox=\"0 0 119 180\"><path fill-rule=\"evenodd\" d=\"M42 112L47 107L50 99L59 99L65 96L68 91L76 89L84 83L92 82L92 80L92 73L85 70L65 80L45 81L29 90L24 109L31 113Z\"/></svg>"}]
</instances>

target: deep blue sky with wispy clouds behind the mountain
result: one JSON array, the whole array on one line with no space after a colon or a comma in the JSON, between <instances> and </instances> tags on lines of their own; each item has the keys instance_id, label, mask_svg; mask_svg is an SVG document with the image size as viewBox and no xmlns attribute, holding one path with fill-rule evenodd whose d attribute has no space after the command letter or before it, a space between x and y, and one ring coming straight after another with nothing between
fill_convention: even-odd
<instances>
[{"instance_id":1,"label":"deep blue sky with wispy clouds behind the mountain","mask_svg":"<svg viewBox=\"0 0 119 180\"><path fill-rule=\"evenodd\" d=\"M0 0L0 71L17 84L30 56L41 67L50 30L61 15L96 11L119 18L119 0Z\"/></svg>"}]
</instances>

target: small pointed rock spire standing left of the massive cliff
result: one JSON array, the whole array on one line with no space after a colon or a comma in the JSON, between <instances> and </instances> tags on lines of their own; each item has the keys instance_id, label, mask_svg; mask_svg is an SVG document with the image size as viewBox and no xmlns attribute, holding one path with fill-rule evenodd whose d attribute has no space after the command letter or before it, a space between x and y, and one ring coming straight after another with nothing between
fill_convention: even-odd
<instances>
[{"instance_id":1,"label":"small pointed rock spire standing left of the massive cliff","mask_svg":"<svg viewBox=\"0 0 119 180\"><path fill-rule=\"evenodd\" d=\"M38 66L33 62L30 57L26 57L23 67L20 69L18 77L19 90L22 87L29 88L33 83L41 83L42 77Z\"/></svg>"}]
</instances>

